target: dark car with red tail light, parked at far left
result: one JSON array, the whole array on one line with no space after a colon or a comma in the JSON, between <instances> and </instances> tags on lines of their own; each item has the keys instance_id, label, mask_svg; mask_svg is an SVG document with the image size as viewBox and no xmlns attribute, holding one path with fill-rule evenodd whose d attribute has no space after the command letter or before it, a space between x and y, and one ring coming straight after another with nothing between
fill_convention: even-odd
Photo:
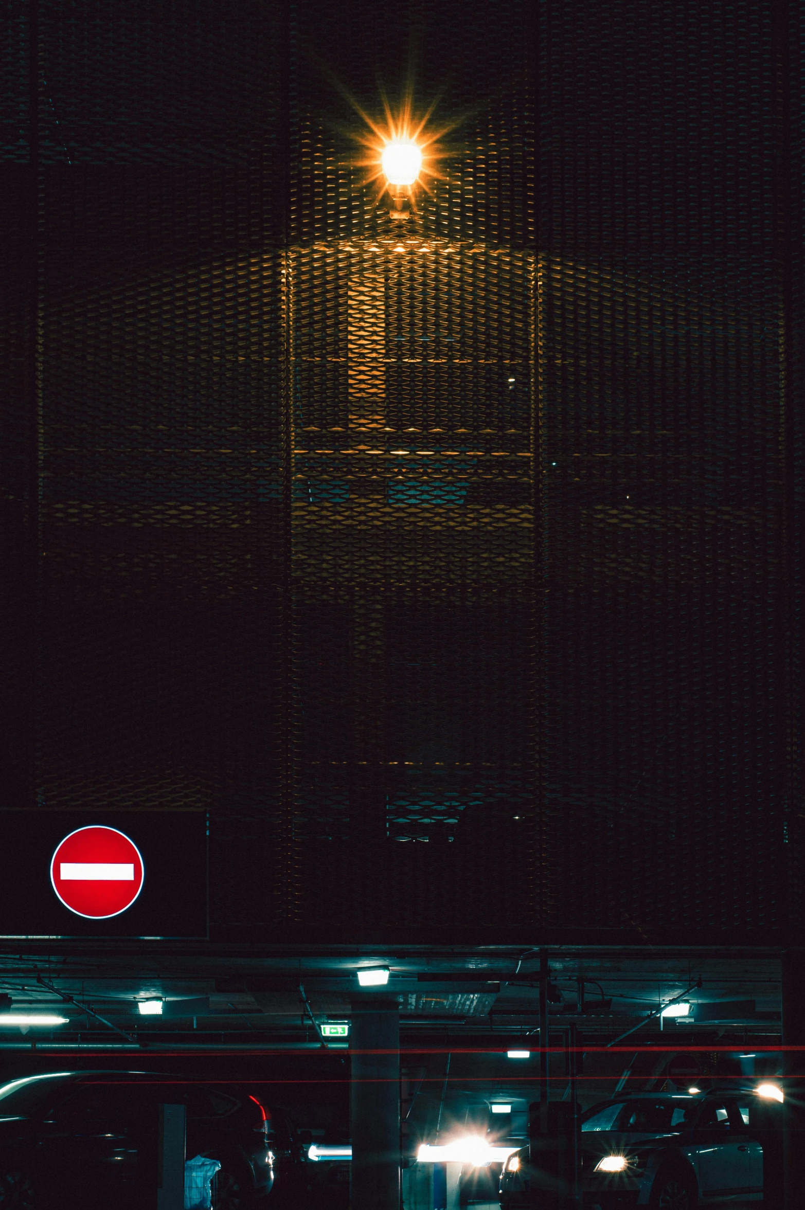
<instances>
[{"instance_id":1,"label":"dark car with red tail light, parked at far left","mask_svg":"<svg viewBox=\"0 0 805 1210\"><path fill-rule=\"evenodd\" d=\"M215 1210L292 1193L299 1147L258 1097L178 1076L54 1072L0 1088L0 1208L155 1204L160 1104L185 1106L188 1159L220 1163Z\"/></svg>"}]
</instances>

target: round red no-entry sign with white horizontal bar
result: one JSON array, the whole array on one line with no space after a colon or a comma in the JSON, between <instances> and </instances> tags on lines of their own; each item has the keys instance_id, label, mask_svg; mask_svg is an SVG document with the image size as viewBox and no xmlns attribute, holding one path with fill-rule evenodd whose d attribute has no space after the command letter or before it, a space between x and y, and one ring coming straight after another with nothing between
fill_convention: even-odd
<instances>
[{"instance_id":1,"label":"round red no-entry sign with white horizontal bar","mask_svg":"<svg viewBox=\"0 0 805 1210\"><path fill-rule=\"evenodd\" d=\"M53 891L76 916L119 916L143 889L139 849L116 828L79 828L65 836L51 860Z\"/></svg>"}]
</instances>

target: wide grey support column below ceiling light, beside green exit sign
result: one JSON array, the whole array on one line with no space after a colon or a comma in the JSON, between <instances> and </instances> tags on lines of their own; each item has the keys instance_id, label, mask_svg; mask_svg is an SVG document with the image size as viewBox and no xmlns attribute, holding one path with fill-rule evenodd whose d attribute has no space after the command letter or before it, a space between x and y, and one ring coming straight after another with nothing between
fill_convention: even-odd
<instances>
[{"instance_id":1,"label":"wide grey support column below ceiling light, beside green exit sign","mask_svg":"<svg viewBox=\"0 0 805 1210\"><path fill-rule=\"evenodd\" d=\"M399 1006L356 996L352 1062L351 1210L399 1210Z\"/></svg>"}]
</instances>

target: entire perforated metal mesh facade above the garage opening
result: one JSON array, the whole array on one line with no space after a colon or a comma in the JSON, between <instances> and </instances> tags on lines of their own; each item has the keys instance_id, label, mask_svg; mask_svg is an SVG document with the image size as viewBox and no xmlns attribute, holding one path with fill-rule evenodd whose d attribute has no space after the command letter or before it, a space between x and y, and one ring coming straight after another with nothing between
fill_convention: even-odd
<instances>
[{"instance_id":1,"label":"entire perforated metal mesh facade above the garage opening","mask_svg":"<svg viewBox=\"0 0 805 1210\"><path fill-rule=\"evenodd\" d=\"M208 811L222 935L784 927L794 10L40 2L33 177L11 15L8 805Z\"/></svg>"}]
</instances>

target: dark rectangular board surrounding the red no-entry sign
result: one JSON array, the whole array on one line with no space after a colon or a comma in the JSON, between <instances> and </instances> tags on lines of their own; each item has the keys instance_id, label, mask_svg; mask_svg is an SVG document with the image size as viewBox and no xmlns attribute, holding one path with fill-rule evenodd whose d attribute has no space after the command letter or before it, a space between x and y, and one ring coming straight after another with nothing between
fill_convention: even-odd
<instances>
[{"instance_id":1,"label":"dark rectangular board surrounding the red no-entry sign","mask_svg":"<svg viewBox=\"0 0 805 1210\"><path fill-rule=\"evenodd\" d=\"M51 862L70 832L99 824L137 846L144 877L131 908L92 920L70 911L56 894ZM0 935L207 937L203 812L4 811L0 837Z\"/></svg>"}]
</instances>

